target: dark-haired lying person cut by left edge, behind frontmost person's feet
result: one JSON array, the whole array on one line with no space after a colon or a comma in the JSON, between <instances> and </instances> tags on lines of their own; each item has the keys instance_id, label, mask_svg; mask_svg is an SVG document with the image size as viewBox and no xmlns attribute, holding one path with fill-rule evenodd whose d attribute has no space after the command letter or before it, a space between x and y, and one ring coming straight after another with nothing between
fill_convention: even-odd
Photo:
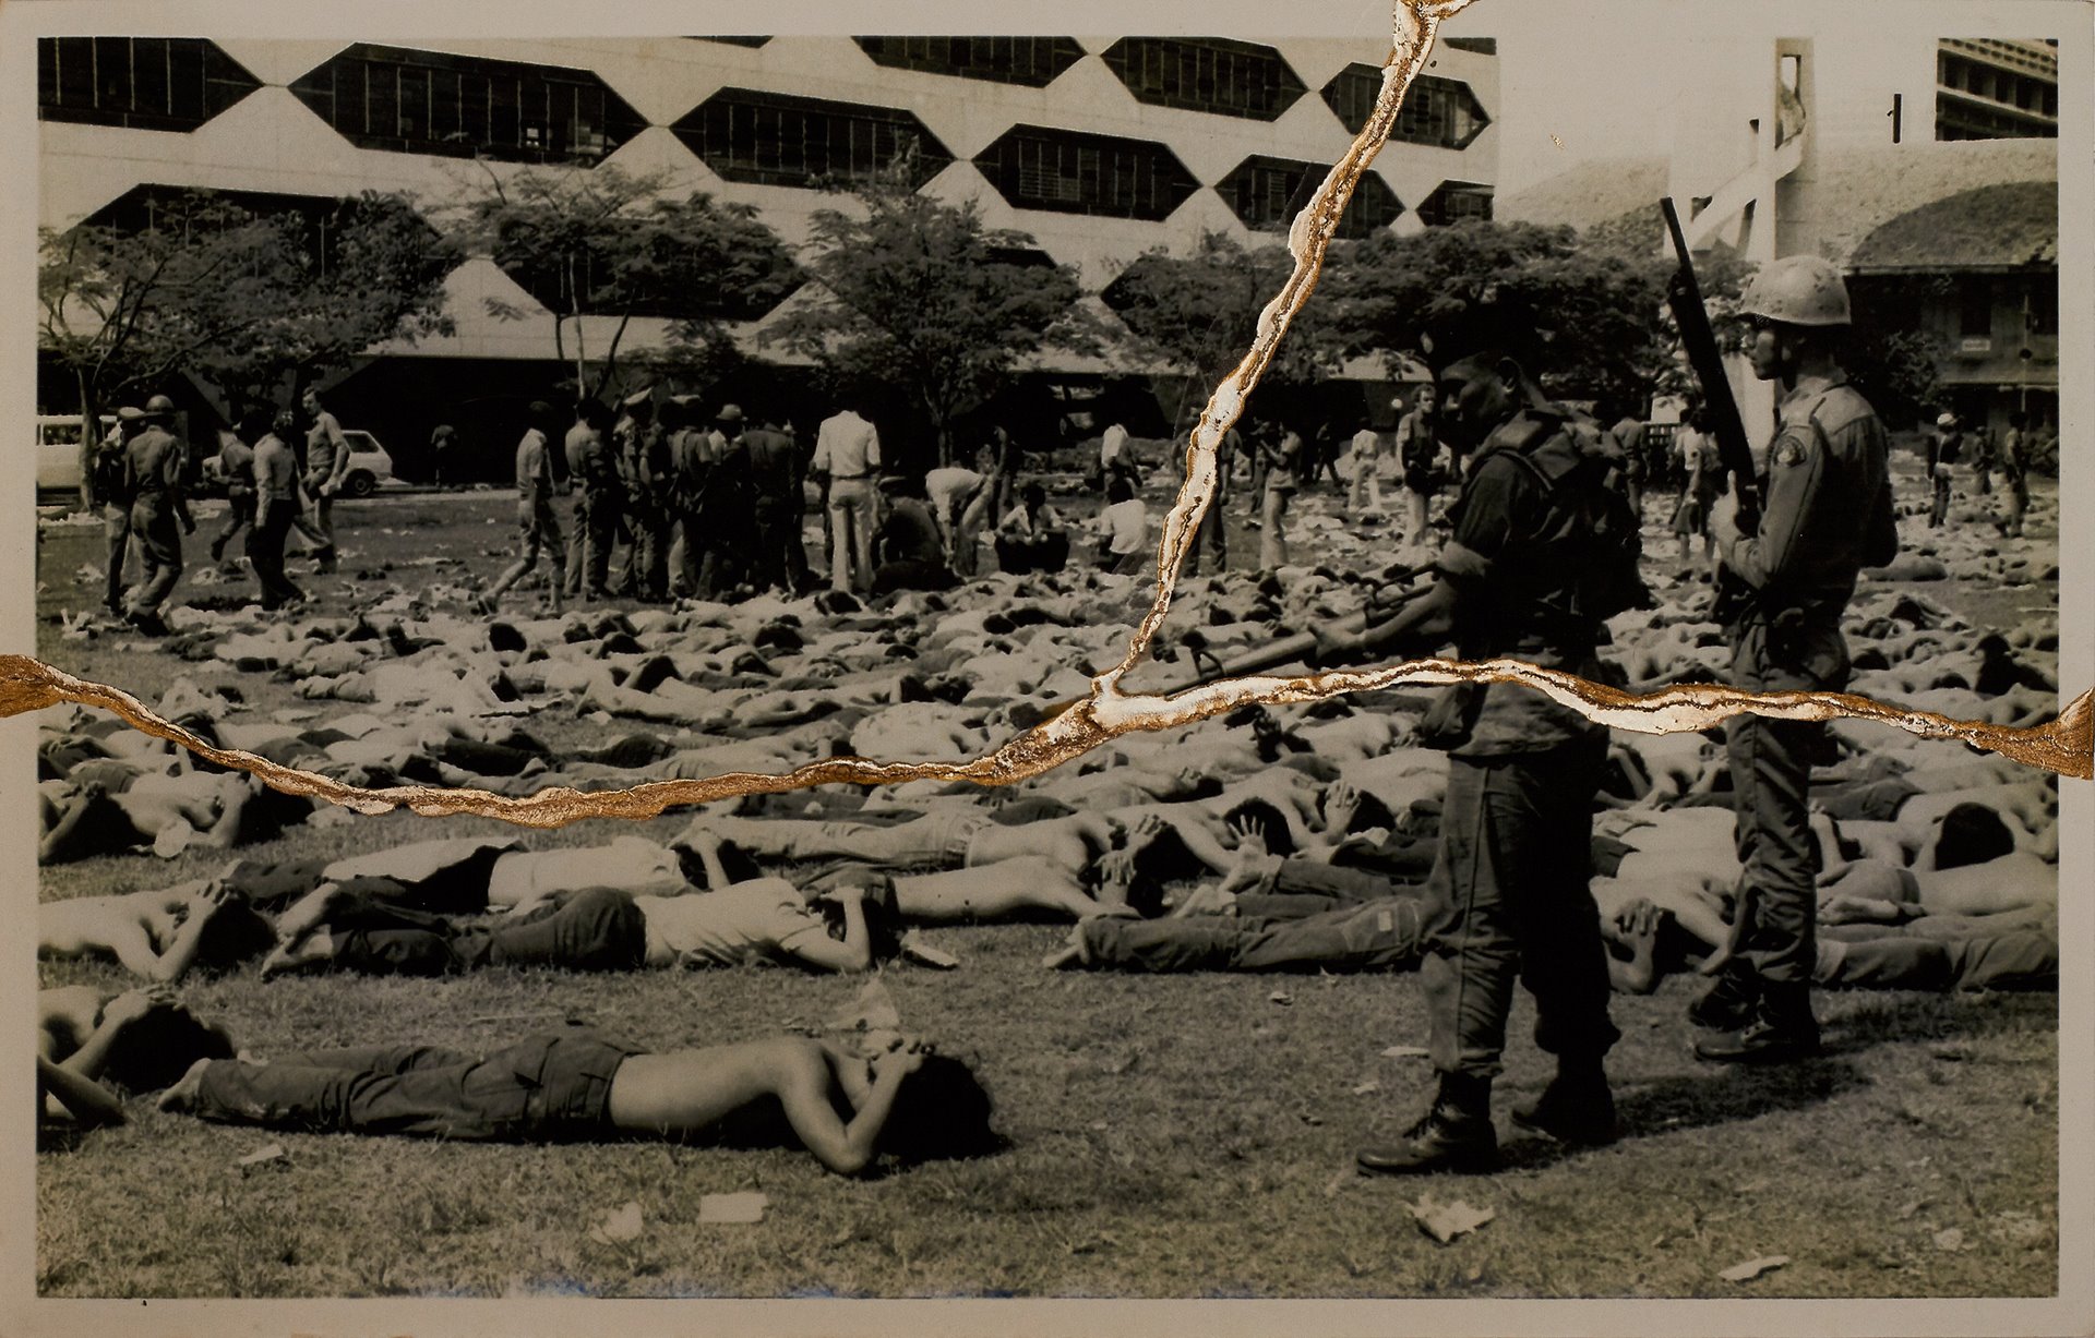
<instances>
[{"instance_id":1,"label":"dark-haired lying person cut by left edge, behind frontmost person's feet","mask_svg":"<svg viewBox=\"0 0 2095 1338\"><path fill-rule=\"evenodd\" d=\"M124 1103L109 1087L157 1091L197 1060L233 1053L226 1030L197 1018L166 986L113 997L86 984L38 990L36 1020L44 1120L122 1122Z\"/></svg>"}]
</instances>

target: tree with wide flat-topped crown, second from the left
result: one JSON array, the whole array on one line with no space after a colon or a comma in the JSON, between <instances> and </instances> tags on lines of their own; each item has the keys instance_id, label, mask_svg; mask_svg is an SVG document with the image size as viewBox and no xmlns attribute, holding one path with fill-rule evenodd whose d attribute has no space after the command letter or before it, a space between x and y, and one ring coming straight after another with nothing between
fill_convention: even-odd
<instances>
[{"instance_id":1,"label":"tree with wide flat-topped crown, second from the left","mask_svg":"<svg viewBox=\"0 0 2095 1338\"><path fill-rule=\"evenodd\" d=\"M721 320L748 320L792 293L802 274L786 243L750 205L725 205L704 191L666 195L666 172L631 174L614 165L522 172L492 170L457 211L455 237L486 253L553 312L553 350L568 360L574 327L574 381L601 396L618 373L618 352L635 316L672 316L704 345ZM507 320L530 312L488 299ZM616 320L589 377L582 316Z\"/></svg>"}]
</instances>

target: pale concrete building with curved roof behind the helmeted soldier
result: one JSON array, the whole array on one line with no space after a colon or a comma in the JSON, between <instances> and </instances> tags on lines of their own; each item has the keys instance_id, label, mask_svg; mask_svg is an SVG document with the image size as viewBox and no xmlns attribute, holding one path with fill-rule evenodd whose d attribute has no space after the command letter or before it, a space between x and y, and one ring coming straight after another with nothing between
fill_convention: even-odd
<instances>
[{"instance_id":1,"label":"pale concrete building with curved roof behind the helmeted soldier","mask_svg":"<svg viewBox=\"0 0 2095 1338\"><path fill-rule=\"evenodd\" d=\"M1839 264L1875 320L1929 339L1940 398L1967 421L2057 421L2053 44L1705 40L1680 80L1695 96L1670 157L1584 163L1502 214L1649 228L1657 249L1672 195L1695 249ZM1739 364L1733 392L1766 433L1770 389Z\"/></svg>"}]
</instances>

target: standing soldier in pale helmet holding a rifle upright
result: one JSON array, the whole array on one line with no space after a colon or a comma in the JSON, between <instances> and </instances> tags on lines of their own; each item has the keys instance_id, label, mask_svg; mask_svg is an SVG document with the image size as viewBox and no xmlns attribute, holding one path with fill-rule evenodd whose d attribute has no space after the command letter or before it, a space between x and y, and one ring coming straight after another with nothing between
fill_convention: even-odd
<instances>
[{"instance_id":1,"label":"standing soldier in pale helmet holding a rifle upright","mask_svg":"<svg viewBox=\"0 0 2095 1338\"><path fill-rule=\"evenodd\" d=\"M1741 304L1754 375L1774 381L1774 442L1760 480L1760 523L1737 523L1737 494L1712 517L1718 561L1751 588L1726 634L1730 683L1751 691L1848 685L1839 620L1862 567L1898 553L1883 423L1850 383L1837 341L1848 287L1831 262L1762 266ZM1808 829L1812 756L1825 724L1737 716L1726 729L1737 804L1739 888L1733 957L1689 1018L1712 1034L1695 1053L1781 1062L1818 1049L1810 980L1818 852Z\"/></svg>"}]
</instances>

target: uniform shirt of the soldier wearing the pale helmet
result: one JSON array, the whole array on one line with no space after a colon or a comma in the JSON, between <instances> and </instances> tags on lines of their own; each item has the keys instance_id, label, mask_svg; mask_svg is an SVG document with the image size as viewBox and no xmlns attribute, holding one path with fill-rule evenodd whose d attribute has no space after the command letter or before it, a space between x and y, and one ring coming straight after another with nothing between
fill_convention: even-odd
<instances>
[{"instance_id":1,"label":"uniform shirt of the soldier wearing the pale helmet","mask_svg":"<svg viewBox=\"0 0 2095 1338\"><path fill-rule=\"evenodd\" d=\"M1800 377L1777 406L1760 528L1724 530L1724 565L1762 593L1762 616L1800 609L1837 622L1871 553L1894 544L1890 440L1844 375Z\"/></svg>"}]
</instances>

